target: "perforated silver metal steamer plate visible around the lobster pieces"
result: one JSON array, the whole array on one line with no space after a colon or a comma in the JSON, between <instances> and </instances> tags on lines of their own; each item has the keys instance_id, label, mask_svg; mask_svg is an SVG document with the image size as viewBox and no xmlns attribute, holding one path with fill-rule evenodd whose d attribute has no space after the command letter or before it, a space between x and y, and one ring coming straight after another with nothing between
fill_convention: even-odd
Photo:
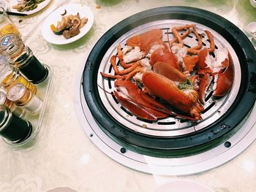
<instances>
[{"instance_id":1,"label":"perforated silver metal steamer plate visible around the lobster pieces","mask_svg":"<svg viewBox=\"0 0 256 192\"><path fill-rule=\"evenodd\" d=\"M193 22L195 23L195 22ZM105 72L106 74L114 74L113 68L110 64L110 57L112 55L116 55L116 46L118 44L121 47L124 47L126 44L126 40L129 37L133 37L136 34L141 34L146 31L150 31L153 28L161 28L164 42L168 42L168 39L173 39L173 34L171 34L171 28L173 26L184 26L186 24L192 24L189 20L158 20L151 23L146 23L142 26L134 28L133 30L127 32L123 36L121 36L113 45L108 49L107 53L102 58L102 62L99 65L99 72ZM109 93L112 93L116 88L114 87L114 81L110 79L105 79L101 77L101 74L98 74L97 84L103 88L98 88L100 99L103 104L105 104L106 109L119 123L124 123L125 126L131 128L133 131L137 131L142 134L148 134L151 136L159 136L159 137L173 137L180 136L184 134L193 133L198 131L206 126L214 123L218 118L220 118L231 106L233 101L236 99L236 95L238 93L238 89L240 87L241 82L241 68L233 47L224 39L220 34L216 31L208 28L206 26L200 25L199 23L195 23L197 32L199 34L205 34L205 30L211 31L214 35L214 42L216 43L216 50L222 49L223 47L227 47L230 50L230 55L232 55L233 61L230 61L230 64L234 64L235 66L235 78L234 78L234 86L230 91L230 94L227 96L217 99L211 97L208 99L206 104L204 105L205 112L202 114L203 120L199 120L197 123L191 120L182 120L180 118L165 118L163 120L158 120L157 122L141 120L137 118L135 115L132 115L131 112L127 112L121 104L117 104L116 100L113 99L113 96ZM169 36L169 37L168 37ZM210 43L208 37L203 35L203 47L209 47ZM195 34L189 34L189 37L184 39L184 45L187 47L195 47L197 45L197 38ZM216 52L216 51L215 51ZM211 57L214 57L214 54L211 54ZM208 94L210 94L210 90Z\"/></svg>"}]
</instances>

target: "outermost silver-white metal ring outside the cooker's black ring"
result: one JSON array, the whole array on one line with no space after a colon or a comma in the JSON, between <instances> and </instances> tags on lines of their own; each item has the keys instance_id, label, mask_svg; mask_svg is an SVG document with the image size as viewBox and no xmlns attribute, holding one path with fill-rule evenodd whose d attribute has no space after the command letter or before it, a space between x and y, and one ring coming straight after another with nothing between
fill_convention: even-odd
<instances>
[{"instance_id":1,"label":"outermost silver-white metal ring outside the cooker's black ring","mask_svg":"<svg viewBox=\"0 0 256 192\"><path fill-rule=\"evenodd\" d=\"M84 64L84 63L83 63ZM83 96L82 69L75 87L75 106L78 118L87 136L103 153L124 166L140 172L162 175L188 175L205 172L225 164L246 149L256 136L256 107L238 125L236 134L212 150L182 158L155 158L125 149L106 135L94 120Z\"/></svg>"}]
</instances>

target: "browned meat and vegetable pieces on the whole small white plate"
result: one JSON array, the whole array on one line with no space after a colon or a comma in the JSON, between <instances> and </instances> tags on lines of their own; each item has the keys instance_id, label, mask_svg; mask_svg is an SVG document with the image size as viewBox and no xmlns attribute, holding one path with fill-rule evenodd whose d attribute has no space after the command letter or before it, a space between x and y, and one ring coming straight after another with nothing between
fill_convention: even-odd
<instances>
[{"instance_id":1,"label":"browned meat and vegetable pieces on the whole small white plate","mask_svg":"<svg viewBox=\"0 0 256 192\"><path fill-rule=\"evenodd\" d=\"M58 21L57 26L51 24L50 28L54 34L63 34L65 39L69 39L80 34L80 28L83 28L83 26L88 22L88 18L80 18L79 12L77 15L67 15L67 11L65 10L61 16L61 21Z\"/></svg>"}]
</instances>

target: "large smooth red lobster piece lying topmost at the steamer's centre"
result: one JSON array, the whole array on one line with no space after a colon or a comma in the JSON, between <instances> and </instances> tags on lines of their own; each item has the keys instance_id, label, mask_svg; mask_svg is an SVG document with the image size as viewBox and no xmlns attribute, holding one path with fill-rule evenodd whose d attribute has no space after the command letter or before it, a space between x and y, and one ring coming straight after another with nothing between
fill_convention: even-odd
<instances>
[{"instance_id":1,"label":"large smooth red lobster piece lying topmost at the steamer's centre","mask_svg":"<svg viewBox=\"0 0 256 192\"><path fill-rule=\"evenodd\" d=\"M181 91L175 82L160 74L143 74L143 85L155 96L164 99L178 110L190 114L195 120L199 120L203 107L198 103L198 94L195 90Z\"/></svg>"}]
</instances>

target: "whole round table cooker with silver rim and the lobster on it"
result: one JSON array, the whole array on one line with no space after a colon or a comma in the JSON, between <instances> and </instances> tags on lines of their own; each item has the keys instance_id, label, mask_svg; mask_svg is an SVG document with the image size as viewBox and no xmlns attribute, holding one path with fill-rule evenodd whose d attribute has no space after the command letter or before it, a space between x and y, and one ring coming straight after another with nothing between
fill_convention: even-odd
<instances>
[{"instance_id":1,"label":"whole round table cooker with silver rim and the lobster on it","mask_svg":"<svg viewBox=\"0 0 256 192\"><path fill-rule=\"evenodd\" d=\"M249 39L219 15L146 10L91 50L78 75L78 116L94 144L125 166L203 172L255 139L255 62Z\"/></svg>"}]
</instances>

